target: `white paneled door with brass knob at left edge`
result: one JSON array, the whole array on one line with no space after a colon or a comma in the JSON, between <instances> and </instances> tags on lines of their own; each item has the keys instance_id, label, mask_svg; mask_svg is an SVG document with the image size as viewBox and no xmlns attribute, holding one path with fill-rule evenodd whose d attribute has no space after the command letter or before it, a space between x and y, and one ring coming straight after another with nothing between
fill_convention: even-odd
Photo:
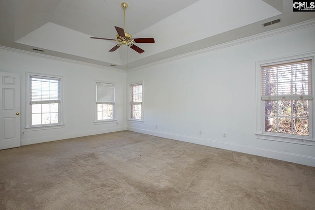
<instances>
[{"instance_id":1,"label":"white paneled door with brass knob at left edge","mask_svg":"<svg viewBox=\"0 0 315 210\"><path fill-rule=\"evenodd\" d=\"M21 75L0 72L0 150L21 146Z\"/></svg>"}]
</instances>

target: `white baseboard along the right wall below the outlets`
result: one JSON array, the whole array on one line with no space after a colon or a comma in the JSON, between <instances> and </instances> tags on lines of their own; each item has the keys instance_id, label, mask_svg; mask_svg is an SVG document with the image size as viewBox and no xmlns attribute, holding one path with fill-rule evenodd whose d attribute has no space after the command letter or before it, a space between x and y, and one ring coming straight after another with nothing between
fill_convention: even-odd
<instances>
[{"instance_id":1,"label":"white baseboard along the right wall below the outlets","mask_svg":"<svg viewBox=\"0 0 315 210\"><path fill-rule=\"evenodd\" d=\"M223 150L238 151L238 152L243 152L247 154L253 154L257 156L268 157L268 158L273 158L277 160L283 160L287 162L298 163L302 165L315 167L314 156L294 154L294 153L278 151L278 150L268 150L264 148L250 147L250 146L239 145L239 144L234 144L234 143L229 143L229 142L222 142L222 141L216 141L216 140L211 140L211 139L184 136L184 135L178 135L178 134L173 134L173 133L158 132L154 130L140 129L140 128L135 128L135 127L127 127L127 130L143 133L143 134L148 134L152 136L158 136L162 138L189 142L193 144L204 145L204 146L209 146L209 147L214 147L214 148L220 148Z\"/></svg>"}]
</instances>

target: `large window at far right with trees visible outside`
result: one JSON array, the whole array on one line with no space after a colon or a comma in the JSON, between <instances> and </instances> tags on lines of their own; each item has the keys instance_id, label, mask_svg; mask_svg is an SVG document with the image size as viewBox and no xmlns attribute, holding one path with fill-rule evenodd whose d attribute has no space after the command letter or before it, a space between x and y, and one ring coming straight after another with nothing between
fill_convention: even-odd
<instances>
[{"instance_id":1,"label":"large window at far right with trees visible outside","mask_svg":"<svg viewBox=\"0 0 315 210\"><path fill-rule=\"evenodd\" d=\"M260 64L259 133L314 140L312 69L313 57Z\"/></svg>"}]
</instances>

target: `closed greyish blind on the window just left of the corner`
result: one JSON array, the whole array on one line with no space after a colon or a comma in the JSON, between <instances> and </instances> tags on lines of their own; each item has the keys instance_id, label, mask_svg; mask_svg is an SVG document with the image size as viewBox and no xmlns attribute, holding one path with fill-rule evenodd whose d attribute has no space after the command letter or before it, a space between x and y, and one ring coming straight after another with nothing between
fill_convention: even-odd
<instances>
[{"instance_id":1,"label":"closed greyish blind on the window just left of the corner","mask_svg":"<svg viewBox=\"0 0 315 210\"><path fill-rule=\"evenodd\" d=\"M114 104L115 103L115 85L109 83L96 83L96 103Z\"/></svg>"}]
</instances>

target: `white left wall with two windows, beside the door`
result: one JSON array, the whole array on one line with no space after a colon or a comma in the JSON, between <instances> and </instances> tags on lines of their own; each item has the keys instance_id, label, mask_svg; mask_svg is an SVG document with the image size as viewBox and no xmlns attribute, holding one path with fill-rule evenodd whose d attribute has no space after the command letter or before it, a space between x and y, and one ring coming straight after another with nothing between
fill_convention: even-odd
<instances>
[{"instance_id":1,"label":"white left wall with two windows, beside the door","mask_svg":"<svg viewBox=\"0 0 315 210\"><path fill-rule=\"evenodd\" d=\"M126 130L125 71L7 48L0 48L0 71L21 75L21 127L25 131L22 145ZM36 131L25 129L27 72L63 77L63 128ZM95 125L95 80L115 83L118 124Z\"/></svg>"}]
</instances>

